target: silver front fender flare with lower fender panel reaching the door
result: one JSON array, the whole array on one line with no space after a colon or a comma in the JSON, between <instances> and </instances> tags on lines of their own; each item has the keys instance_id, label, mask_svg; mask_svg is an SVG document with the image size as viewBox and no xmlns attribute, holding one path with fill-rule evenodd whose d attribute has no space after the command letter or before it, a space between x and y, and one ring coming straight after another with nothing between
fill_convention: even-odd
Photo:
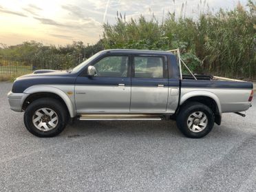
<instances>
[{"instance_id":1,"label":"silver front fender flare with lower fender panel reaching the door","mask_svg":"<svg viewBox=\"0 0 256 192\"><path fill-rule=\"evenodd\" d=\"M25 89L23 93L28 95L39 93L39 92L49 92L52 94L56 94L64 100L65 104L67 105L67 109L70 112L70 117L74 118L76 116L76 107L74 103L74 85L70 85L70 86L68 85L34 85ZM67 94L65 94L65 91L70 91L70 89L72 90L73 94L71 96L67 96Z\"/></svg>"}]
</instances>

